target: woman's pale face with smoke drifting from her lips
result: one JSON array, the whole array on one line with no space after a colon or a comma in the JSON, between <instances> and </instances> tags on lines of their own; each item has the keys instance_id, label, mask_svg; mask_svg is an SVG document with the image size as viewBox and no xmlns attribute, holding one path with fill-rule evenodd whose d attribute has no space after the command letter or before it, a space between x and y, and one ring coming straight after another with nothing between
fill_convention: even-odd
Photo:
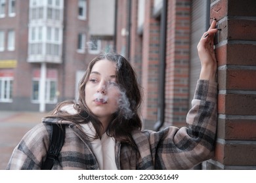
<instances>
[{"instance_id":1,"label":"woman's pale face with smoke drifting from her lips","mask_svg":"<svg viewBox=\"0 0 256 183\"><path fill-rule=\"evenodd\" d=\"M118 110L120 90L116 83L116 65L113 61L101 59L93 65L89 80L85 84L87 107L101 122L110 122Z\"/></svg>"}]
</instances>

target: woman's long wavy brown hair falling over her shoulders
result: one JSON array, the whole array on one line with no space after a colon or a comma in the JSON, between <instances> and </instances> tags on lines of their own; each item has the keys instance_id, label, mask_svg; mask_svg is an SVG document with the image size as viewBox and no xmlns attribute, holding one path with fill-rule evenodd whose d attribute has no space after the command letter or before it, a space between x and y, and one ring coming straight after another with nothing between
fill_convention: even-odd
<instances>
[{"instance_id":1,"label":"woman's long wavy brown hair falling over her shoulders","mask_svg":"<svg viewBox=\"0 0 256 183\"><path fill-rule=\"evenodd\" d=\"M132 137L131 131L134 129L141 129L142 123L139 117L139 107L141 103L141 93L139 84L137 82L137 75L127 59L116 53L106 53L96 56L88 65L87 71L83 78L79 82L79 98L77 103L72 101L64 101L60 103L53 111L53 116L58 117L61 120L68 120L74 123L88 123L92 122L96 130L95 139L102 134L102 125L96 116L89 110L85 103L85 85L89 80L89 75L93 65L101 59L108 59L116 63L116 82L119 89L125 95L125 102L120 101L120 105L125 107L119 107L119 110L112 116L112 122L110 122L107 130L107 134L114 137L117 141L126 142L132 146L136 146ZM77 110L77 114L69 114L62 111L61 108L73 104ZM51 116L51 117L53 117Z\"/></svg>"}]
</instances>

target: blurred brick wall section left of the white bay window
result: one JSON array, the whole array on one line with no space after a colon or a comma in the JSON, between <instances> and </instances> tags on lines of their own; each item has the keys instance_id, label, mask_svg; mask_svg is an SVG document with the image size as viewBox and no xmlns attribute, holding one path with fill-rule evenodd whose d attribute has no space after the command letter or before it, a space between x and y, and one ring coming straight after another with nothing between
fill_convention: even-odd
<instances>
[{"instance_id":1,"label":"blurred brick wall section left of the white bay window","mask_svg":"<svg viewBox=\"0 0 256 183\"><path fill-rule=\"evenodd\" d=\"M14 84L13 84L13 98L14 102L16 98L26 97L30 99L31 90L28 88L32 88L31 86L31 65L27 62L27 54L28 54L28 4L29 1L24 1L21 3L20 1L16 2L16 16L9 17L7 10L8 2L5 1L5 16L6 18L1 18L1 21L4 21L1 24L3 27L6 24L5 29L5 52L1 53L1 59L16 59L17 65L14 69ZM19 10L19 12L18 12ZM24 11L22 11L24 10ZM9 29L14 29L15 31L15 50L7 51L7 33ZM3 54L3 55L2 55ZM24 82L24 81L29 82ZM22 84L21 84L22 83Z\"/></svg>"}]
</instances>

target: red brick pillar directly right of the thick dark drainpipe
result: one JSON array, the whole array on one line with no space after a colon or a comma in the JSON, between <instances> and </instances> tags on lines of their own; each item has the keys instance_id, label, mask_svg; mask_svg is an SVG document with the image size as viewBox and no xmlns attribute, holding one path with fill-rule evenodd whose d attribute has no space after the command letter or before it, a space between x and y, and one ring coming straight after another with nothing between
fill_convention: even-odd
<instances>
[{"instance_id":1,"label":"red brick pillar directly right of the thick dark drainpipe","mask_svg":"<svg viewBox=\"0 0 256 183\"><path fill-rule=\"evenodd\" d=\"M188 112L190 1L167 1L165 125L184 125Z\"/></svg>"}]
</instances>

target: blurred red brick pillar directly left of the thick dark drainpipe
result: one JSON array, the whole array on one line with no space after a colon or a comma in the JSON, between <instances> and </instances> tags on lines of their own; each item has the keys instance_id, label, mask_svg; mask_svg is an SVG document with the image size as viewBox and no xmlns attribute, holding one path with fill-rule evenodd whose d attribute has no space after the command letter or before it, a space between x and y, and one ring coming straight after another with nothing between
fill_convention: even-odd
<instances>
[{"instance_id":1,"label":"blurred red brick pillar directly left of the thick dark drainpipe","mask_svg":"<svg viewBox=\"0 0 256 183\"><path fill-rule=\"evenodd\" d=\"M158 110L158 72L160 22L153 15L154 1L145 1L145 20L142 41L142 116L156 122Z\"/></svg>"}]
</instances>

